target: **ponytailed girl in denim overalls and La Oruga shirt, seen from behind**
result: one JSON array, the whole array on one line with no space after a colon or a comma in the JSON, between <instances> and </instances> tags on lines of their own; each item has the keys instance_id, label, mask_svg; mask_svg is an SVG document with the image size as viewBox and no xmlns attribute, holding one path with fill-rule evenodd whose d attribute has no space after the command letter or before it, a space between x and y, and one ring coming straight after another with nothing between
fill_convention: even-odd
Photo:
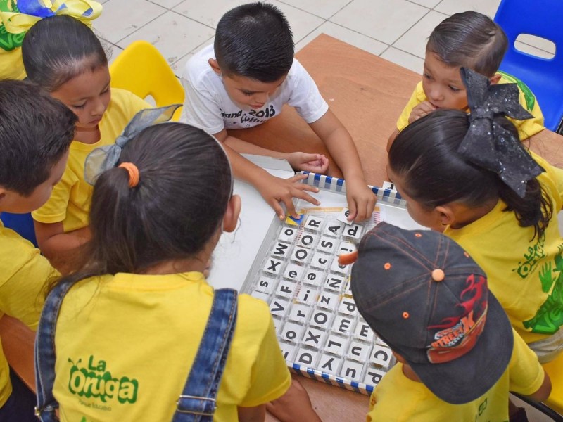
<instances>
[{"instance_id":1,"label":"ponytailed girl in denim overalls and La Oruga shirt, seen from behind","mask_svg":"<svg viewBox=\"0 0 563 422\"><path fill-rule=\"evenodd\" d=\"M96 179L82 265L58 281L45 309L60 312L39 324L39 364L47 349L56 359L39 368L54 371L54 385L38 391L56 397L61 421L170 421L180 395L216 398L214 421L260 421L289 388L267 304L213 290L202 274L238 221L232 181L220 143L177 122L139 132ZM210 316L212 306L221 313ZM210 345L217 335L226 341ZM42 347L49 338L54 350ZM218 361L208 396L198 387Z\"/></svg>"}]
</instances>

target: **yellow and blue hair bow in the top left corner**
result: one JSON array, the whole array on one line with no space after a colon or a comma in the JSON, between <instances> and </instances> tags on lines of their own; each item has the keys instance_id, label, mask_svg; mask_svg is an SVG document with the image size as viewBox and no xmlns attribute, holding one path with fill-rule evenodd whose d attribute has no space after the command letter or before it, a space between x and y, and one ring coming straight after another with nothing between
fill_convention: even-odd
<instances>
[{"instance_id":1,"label":"yellow and blue hair bow in the top left corner","mask_svg":"<svg viewBox=\"0 0 563 422\"><path fill-rule=\"evenodd\" d=\"M70 15L90 25L101 13L101 4L91 0L18 0L12 12L0 12L6 31L20 34L38 20L54 15Z\"/></svg>"}]
</instances>

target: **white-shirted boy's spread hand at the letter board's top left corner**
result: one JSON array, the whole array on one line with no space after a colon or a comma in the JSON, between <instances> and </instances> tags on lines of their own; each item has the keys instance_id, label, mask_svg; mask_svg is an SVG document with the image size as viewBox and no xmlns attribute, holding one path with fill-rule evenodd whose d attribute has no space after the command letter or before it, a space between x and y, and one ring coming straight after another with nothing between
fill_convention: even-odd
<instances>
[{"instance_id":1,"label":"white-shirted boy's spread hand at the letter board's top left corner","mask_svg":"<svg viewBox=\"0 0 563 422\"><path fill-rule=\"evenodd\" d=\"M284 210L279 204L280 202L284 203L286 206L287 214L296 218L298 218L298 214L293 205L293 198L306 200L312 203L312 205L320 205L318 200L308 193L305 193L305 191L319 191L315 186L301 183L301 180L307 178L307 174L296 174L296 176L290 177L289 179L281 179L271 174L268 174L268 176L269 177L262 179L260 184L256 185L256 188L258 192L260 192L260 195L262 195L262 198L274 208L279 219L284 220L286 218Z\"/></svg>"}]
</instances>

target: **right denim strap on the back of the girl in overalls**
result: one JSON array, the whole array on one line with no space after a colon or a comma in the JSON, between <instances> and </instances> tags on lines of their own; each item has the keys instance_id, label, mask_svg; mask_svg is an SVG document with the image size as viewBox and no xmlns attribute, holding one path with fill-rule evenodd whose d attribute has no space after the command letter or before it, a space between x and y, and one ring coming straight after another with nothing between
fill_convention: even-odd
<instances>
[{"instance_id":1,"label":"right denim strap on the back of the girl in overalls","mask_svg":"<svg viewBox=\"0 0 563 422\"><path fill-rule=\"evenodd\" d=\"M215 290L203 338L172 422L210 422L236 325L236 290Z\"/></svg>"}]
</instances>

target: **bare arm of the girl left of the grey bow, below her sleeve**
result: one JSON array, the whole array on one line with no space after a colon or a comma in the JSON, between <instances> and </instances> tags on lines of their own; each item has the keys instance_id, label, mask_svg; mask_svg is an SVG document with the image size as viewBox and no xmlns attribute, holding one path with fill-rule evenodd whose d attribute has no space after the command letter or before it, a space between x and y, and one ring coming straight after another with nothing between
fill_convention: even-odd
<instances>
[{"instance_id":1,"label":"bare arm of the girl left of the grey bow, below her sleeve","mask_svg":"<svg viewBox=\"0 0 563 422\"><path fill-rule=\"evenodd\" d=\"M90 229L84 227L82 229L68 231L65 233L63 222L58 223L41 223L34 220L35 237L39 249L49 260L61 263L64 257L68 257L68 252L75 250L90 239Z\"/></svg>"}]
</instances>

